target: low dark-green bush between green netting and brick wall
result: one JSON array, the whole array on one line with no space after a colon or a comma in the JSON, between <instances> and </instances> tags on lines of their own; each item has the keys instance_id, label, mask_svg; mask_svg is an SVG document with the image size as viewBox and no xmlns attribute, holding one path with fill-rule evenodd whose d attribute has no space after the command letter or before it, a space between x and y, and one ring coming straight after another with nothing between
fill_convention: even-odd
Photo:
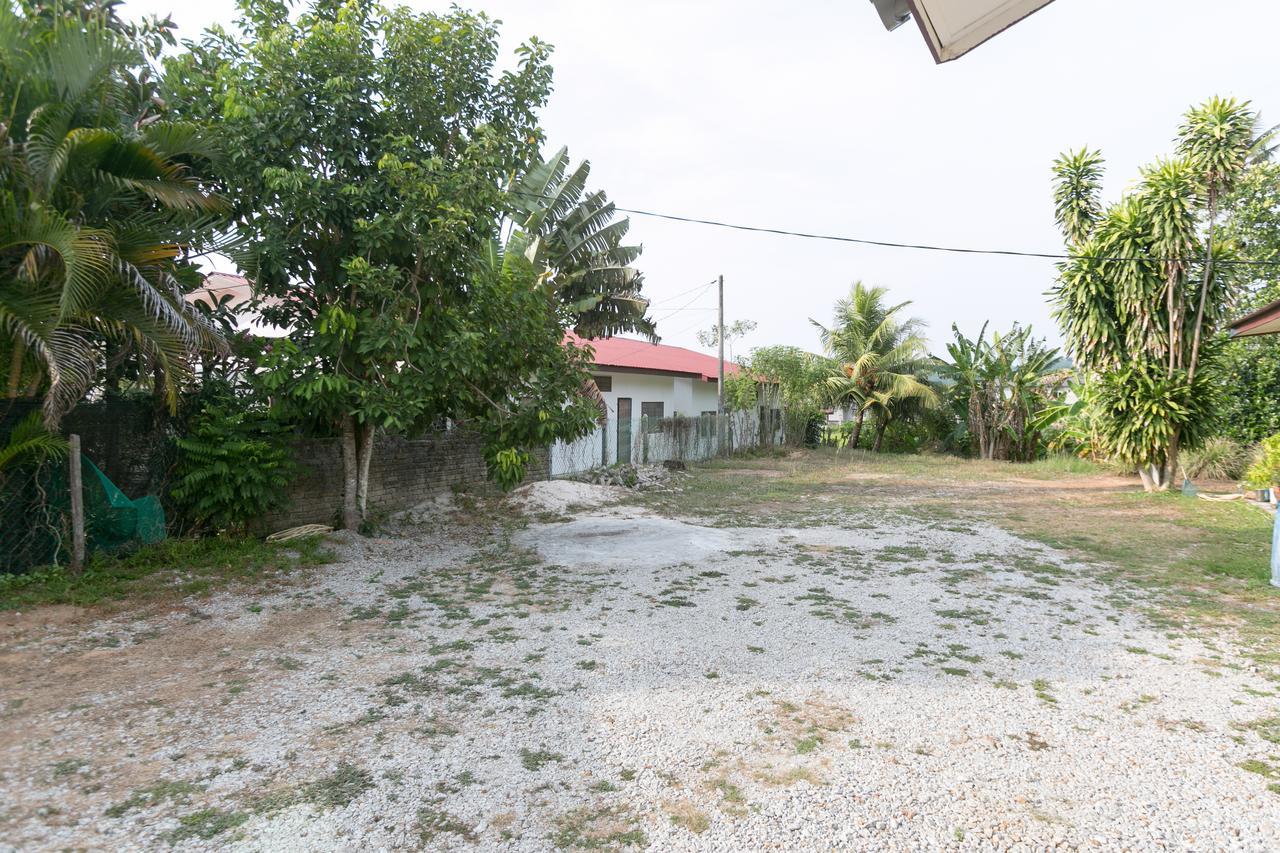
<instances>
[{"instance_id":1,"label":"low dark-green bush between green netting and brick wall","mask_svg":"<svg viewBox=\"0 0 1280 853\"><path fill-rule=\"evenodd\" d=\"M195 529L243 534L284 502L294 465L266 411L210 400L177 442L173 500Z\"/></svg>"}]
</instances>

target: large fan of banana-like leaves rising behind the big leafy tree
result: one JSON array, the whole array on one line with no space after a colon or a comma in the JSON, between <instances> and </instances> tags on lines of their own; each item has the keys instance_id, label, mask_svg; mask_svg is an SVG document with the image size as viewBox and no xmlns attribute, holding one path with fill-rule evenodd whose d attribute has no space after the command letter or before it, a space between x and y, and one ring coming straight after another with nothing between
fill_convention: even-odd
<instances>
[{"instance_id":1,"label":"large fan of banana-like leaves rising behind the big leafy tree","mask_svg":"<svg viewBox=\"0 0 1280 853\"><path fill-rule=\"evenodd\" d=\"M631 265L641 247L622 245L630 220L613 219L604 192L586 192L589 161L572 172L568 165L568 150L561 149L511 187L512 238L556 293L575 334L637 332L657 341L649 301L640 295L644 274Z\"/></svg>"}]
</instances>

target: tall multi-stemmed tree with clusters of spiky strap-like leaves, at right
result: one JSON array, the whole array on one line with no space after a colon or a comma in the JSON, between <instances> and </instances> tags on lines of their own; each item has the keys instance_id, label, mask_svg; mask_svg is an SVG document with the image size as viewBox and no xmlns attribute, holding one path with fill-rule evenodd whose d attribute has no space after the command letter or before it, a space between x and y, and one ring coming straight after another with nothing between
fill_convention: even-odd
<instances>
[{"instance_id":1,"label":"tall multi-stemmed tree with clusters of spiky strap-like leaves, at right","mask_svg":"<svg viewBox=\"0 0 1280 853\"><path fill-rule=\"evenodd\" d=\"M1169 488L1179 447L1208 433L1206 341L1238 283L1222 264L1235 247L1215 240L1217 205L1248 168L1254 123L1247 102L1215 97L1193 108L1176 156L1144 168L1137 190L1107 209L1097 152L1053 164L1055 210L1073 255L1060 270L1056 316L1076 364L1102 379L1106 441L1148 491ZM1114 380L1120 374L1129 384Z\"/></svg>"}]
</instances>

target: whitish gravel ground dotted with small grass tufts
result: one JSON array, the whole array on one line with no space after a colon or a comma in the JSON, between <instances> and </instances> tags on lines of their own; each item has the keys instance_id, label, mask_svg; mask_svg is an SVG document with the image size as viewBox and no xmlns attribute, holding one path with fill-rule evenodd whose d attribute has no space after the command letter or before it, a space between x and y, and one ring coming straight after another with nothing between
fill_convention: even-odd
<instances>
[{"instance_id":1,"label":"whitish gravel ground dotted with small grass tufts","mask_svg":"<svg viewBox=\"0 0 1280 853\"><path fill-rule=\"evenodd\" d=\"M270 596L9 619L0 848L1280 849L1229 638L997 528L832 516L435 519Z\"/></svg>"}]
</instances>

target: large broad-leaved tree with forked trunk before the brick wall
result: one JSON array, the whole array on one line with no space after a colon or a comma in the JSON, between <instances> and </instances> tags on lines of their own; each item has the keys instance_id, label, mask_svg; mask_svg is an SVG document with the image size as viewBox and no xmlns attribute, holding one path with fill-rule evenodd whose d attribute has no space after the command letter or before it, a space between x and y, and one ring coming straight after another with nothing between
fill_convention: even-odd
<instances>
[{"instance_id":1,"label":"large broad-leaved tree with forked trunk before the brick wall","mask_svg":"<svg viewBox=\"0 0 1280 853\"><path fill-rule=\"evenodd\" d=\"M602 237L602 196L566 191L556 216L534 222L530 200L504 191L538 161L550 49L532 38L498 73L498 28L483 14L365 0L317 0L296 18L243 0L238 29L189 45L166 81L178 109L218 123L221 179L252 245L241 264L279 300L264 318L292 329L262 378L340 434L343 525L365 515L379 428L472 423L504 484L530 447L590 428L573 396L585 355L561 346L562 297L590 310L582 291L617 273L602 259L631 257L609 242L625 229ZM600 219L541 228L585 210ZM508 215L544 238L531 259L494 242Z\"/></svg>"}]
</instances>

